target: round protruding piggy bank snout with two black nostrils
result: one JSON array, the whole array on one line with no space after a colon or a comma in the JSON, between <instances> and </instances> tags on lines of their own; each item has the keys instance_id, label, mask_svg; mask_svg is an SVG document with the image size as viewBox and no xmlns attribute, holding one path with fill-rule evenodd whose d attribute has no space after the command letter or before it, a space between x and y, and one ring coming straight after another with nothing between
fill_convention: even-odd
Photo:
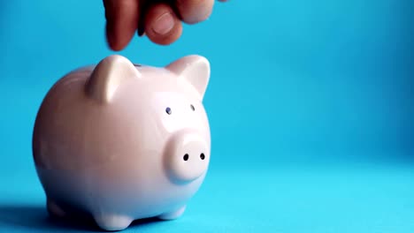
<instances>
[{"instance_id":1,"label":"round protruding piggy bank snout with two black nostrils","mask_svg":"<svg viewBox=\"0 0 414 233\"><path fill-rule=\"evenodd\" d=\"M180 183L201 177L210 162L210 147L200 133L182 131L173 134L165 150L170 178Z\"/></svg>"}]
</instances>

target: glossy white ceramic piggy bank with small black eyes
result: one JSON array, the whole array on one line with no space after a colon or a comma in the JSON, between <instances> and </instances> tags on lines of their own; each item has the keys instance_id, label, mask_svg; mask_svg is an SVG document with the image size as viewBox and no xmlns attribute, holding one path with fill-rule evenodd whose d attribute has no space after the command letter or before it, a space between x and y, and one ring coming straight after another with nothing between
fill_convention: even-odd
<instances>
[{"instance_id":1,"label":"glossy white ceramic piggy bank with small black eyes","mask_svg":"<svg viewBox=\"0 0 414 233\"><path fill-rule=\"evenodd\" d=\"M88 214L106 230L180 217L210 162L209 79L203 56L155 67L119 55L59 79L33 134L49 213Z\"/></svg>"}]
</instances>

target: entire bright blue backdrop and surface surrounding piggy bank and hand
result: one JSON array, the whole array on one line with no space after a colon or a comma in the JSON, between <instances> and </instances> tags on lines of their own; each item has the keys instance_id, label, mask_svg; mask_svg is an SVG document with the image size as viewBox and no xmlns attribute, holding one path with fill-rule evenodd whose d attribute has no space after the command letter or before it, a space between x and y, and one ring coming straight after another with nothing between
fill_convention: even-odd
<instances>
[{"instance_id":1,"label":"entire bright blue backdrop and surface surrounding piggy bank and hand","mask_svg":"<svg viewBox=\"0 0 414 233\"><path fill-rule=\"evenodd\" d=\"M126 232L414 232L413 11L230 1L171 46L135 38L119 54L136 63L211 61L212 158L179 220ZM0 230L88 231L48 219L31 139L50 86L114 53L103 4L2 1L0 24Z\"/></svg>"}]
</instances>

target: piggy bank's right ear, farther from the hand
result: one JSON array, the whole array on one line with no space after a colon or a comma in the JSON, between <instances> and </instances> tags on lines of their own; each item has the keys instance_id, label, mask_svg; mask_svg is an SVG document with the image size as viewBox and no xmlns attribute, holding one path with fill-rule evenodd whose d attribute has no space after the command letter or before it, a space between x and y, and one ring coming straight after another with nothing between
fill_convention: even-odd
<instances>
[{"instance_id":1,"label":"piggy bank's right ear, farther from the hand","mask_svg":"<svg viewBox=\"0 0 414 233\"><path fill-rule=\"evenodd\" d=\"M184 56L172 64L168 64L166 68L175 72L180 79L186 79L192 86L196 88L201 100L210 79L210 63L203 56Z\"/></svg>"}]
</instances>

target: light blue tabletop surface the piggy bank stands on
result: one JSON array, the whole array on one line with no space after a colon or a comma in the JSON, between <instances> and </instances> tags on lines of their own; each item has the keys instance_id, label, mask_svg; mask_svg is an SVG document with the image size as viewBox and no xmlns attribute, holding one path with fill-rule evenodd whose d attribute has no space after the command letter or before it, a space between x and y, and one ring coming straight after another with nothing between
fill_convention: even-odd
<instances>
[{"instance_id":1,"label":"light blue tabletop surface the piggy bank stands on","mask_svg":"<svg viewBox=\"0 0 414 233\"><path fill-rule=\"evenodd\" d=\"M410 163L284 164L211 169L186 213L134 222L125 232L414 232ZM0 176L0 230L91 232L56 222L34 169Z\"/></svg>"}]
</instances>

